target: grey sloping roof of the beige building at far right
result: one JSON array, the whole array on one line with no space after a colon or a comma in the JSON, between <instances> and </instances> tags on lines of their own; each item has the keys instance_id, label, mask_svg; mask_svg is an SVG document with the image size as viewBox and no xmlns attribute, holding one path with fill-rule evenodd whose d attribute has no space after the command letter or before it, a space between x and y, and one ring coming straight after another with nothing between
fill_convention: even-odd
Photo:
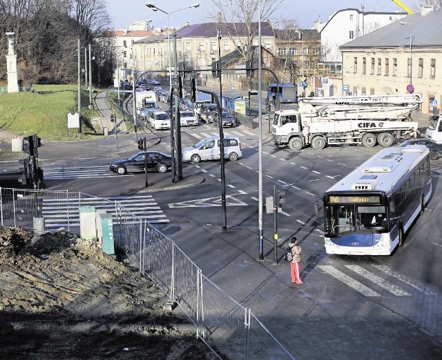
<instances>
[{"instance_id":1,"label":"grey sloping roof of the beige building at far right","mask_svg":"<svg viewBox=\"0 0 442 360\"><path fill-rule=\"evenodd\" d=\"M406 47L410 46L410 32L412 46L442 46L442 11L428 12L425 15L420 13L408 15L400 21L394 21L363 37L349 41L341 45L340 49Z\"/></svg>"}]
</instances>

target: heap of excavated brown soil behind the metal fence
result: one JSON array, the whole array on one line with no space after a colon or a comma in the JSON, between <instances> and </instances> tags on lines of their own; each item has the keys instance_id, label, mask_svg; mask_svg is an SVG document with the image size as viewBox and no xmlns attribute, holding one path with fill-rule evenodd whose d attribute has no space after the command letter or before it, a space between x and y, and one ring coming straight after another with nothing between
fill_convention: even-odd
<instances>
[{"instance_id":1,"label":"heap of excavated brown soil behind the metal fence","mask_svg":"<svg viewBox=\"0 0 442 360\"><path fill-rule=\"evenodd\" d=\"M126 260L0 227L0 359L218 359Z\"/></svg>"}]
</instances>

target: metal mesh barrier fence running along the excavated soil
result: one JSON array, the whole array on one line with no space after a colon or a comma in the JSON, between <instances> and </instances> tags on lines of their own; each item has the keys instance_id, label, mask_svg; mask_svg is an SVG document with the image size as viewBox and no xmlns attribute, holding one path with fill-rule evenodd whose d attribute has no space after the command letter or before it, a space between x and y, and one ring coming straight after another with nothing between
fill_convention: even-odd
<instances>
[{"instance_id":1,"label":"metal mesh barrier fence running along the excavated soil","mask_svg":"<svg viewBox=\"0 0 442 360\"><path fill-rule=\"evenodd\" d=\"M0 188L1 226L33 228L44 218L44 230L65 228L79 234L79 208L113 211L115 245L186 313L196 334L220 359L294 359L256 318L202 274L175 242L148 221L128 212L119 201L82 192Z\"/></svg>"}]
</instances>

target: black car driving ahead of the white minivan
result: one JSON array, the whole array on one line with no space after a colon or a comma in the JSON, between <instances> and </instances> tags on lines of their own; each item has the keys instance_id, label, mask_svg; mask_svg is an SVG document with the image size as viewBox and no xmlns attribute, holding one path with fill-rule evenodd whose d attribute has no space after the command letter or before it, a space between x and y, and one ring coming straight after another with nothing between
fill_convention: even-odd
<instances>
[{"instance_id":1,"label":"black car driving ahead of the white minivan","mask_svg":"<svg viewBox=\"0 0 442 360\"><path fill-rule=\"evenodd\" d=\"M146 154L147 170L166 172L172 168L171 155L164 154L164 152L160 151L148 151ZM144 171L144 164L144 151L139 151L127 159L112 161L109 164L109 170L124 175L128 172Z\"/></svg>"}]
</instances>

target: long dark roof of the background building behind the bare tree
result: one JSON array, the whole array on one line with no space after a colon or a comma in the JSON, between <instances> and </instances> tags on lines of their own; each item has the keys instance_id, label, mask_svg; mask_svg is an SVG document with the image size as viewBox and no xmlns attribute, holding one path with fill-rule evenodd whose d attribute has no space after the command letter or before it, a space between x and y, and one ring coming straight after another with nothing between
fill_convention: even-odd
<instances>
[{"instance_id":1,"label":"long dark roof of the background building behind the bare tree","mask_svg":"<svg viewBox=\"0 0 442 360\"><path fill-rule=\"evenodd\" d=\"M218 29L221 30L221 36L224 32L230 31L231 34L238 32L240 37L249 36L249 30L245 23L196 23L189 26L184 26L177 30L177 37L216 37ZM236 27L236 30L234 30ZM258 23L251 23L252 35L258 36ZM261 36L273 37L275 34L271 24L261 22Z\"/></svg>"}]
</instances>

